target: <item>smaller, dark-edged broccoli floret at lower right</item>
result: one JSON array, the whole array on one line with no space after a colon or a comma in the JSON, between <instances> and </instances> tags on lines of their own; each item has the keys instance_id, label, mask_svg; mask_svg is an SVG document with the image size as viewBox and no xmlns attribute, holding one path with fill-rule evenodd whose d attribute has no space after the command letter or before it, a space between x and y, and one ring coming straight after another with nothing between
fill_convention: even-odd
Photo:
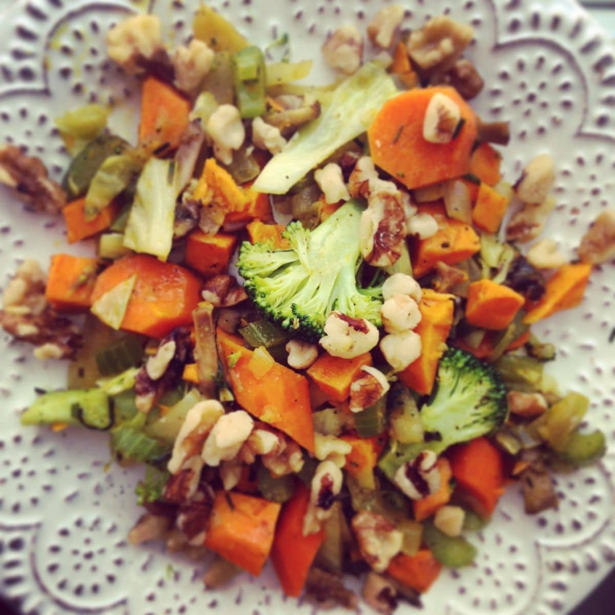
<instances>
[{"instance_id":1,"label":"smaller, dark-edged broccoli floret at lower right","mask_svg":"<svg viewBox=\"0 0 615 615\"><path fill-rule=\"evenodd\" d=\"M469 352L445 352L435 387L421 408L421 422L442 438L440 450L494 432L506 421L506 389L498 372Z\"/></svg>"}]
</instances>

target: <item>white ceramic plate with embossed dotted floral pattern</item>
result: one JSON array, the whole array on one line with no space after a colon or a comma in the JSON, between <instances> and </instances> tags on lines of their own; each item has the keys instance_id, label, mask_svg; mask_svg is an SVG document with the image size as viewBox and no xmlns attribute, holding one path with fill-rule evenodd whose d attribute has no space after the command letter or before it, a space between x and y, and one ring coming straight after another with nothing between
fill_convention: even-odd
<instances>
[{"instance_id":1,"label":"white ceramic plate with embossed dotted floral pattern","mask_svg":"<svg viewBox=\"0 0 615 615\"><path fill-rule=\"evenodd\" d=\"M230 0L212 2L257 44L290 33L293 59L319 58L328 30L364 27L378 0ZM546 235L573 248L590 221L615 201L615 60L597 23L572 0L407 0L405 26L450 13L472 23L470 57L485 77L476 106L487 119L511 122L504 171L549 151L557 161L557 211ZM169 39L186 39L194 1L2 0L0 2L0 142L40 156L55 178L68 161L53 127L65 109L90 100L135 101L134 82L105 62L104 33L133 10L162 17ZM318 63L319 60L316 59ZM327 74L320 70L317 78ZM125 105L124 105L125 108ZM114 125L134 130L120 111ZM57 218L23 212L0 192L0 284L17 263L66 250ZM84 247L69 248L71 252ZM592 400L588 422L605 430L600 465L558 477L561 505L527 517L517 487L493 523L474 538L475 565L446 572L424 600L430 614L554 614L573 608L615 561L615 327L613 265L592 275L582 305L537 327L557 344L550 365L564 389ZM2 338L0 352L0 592L23 611L52 613L310 613L284 600L273 574L239 577L224 592L205 592L202 565L161 549L127 546L140 514L133 490L140 471L109 461L106 438L84 431L22 429L19 411L33 387L59 387L63 370L31 359L29 347ZM410 608L407 607L410 611ZM400 613L405 613L400 608Z\"/></svg>"}]
</instances>

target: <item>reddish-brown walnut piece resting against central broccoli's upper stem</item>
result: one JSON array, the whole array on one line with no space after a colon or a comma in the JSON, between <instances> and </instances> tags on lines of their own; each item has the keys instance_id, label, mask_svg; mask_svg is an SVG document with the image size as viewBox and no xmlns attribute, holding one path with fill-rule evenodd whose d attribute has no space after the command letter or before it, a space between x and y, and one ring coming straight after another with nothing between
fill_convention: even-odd
<instances>
[{"instance_id":1,"label":"reddish-brown walnut piece resting against central broccoli's upper stem","mask_svg":"<svg viewBox=\"0 0 615 615\"><path fill-rule=\"evenodd\" d=\"M400 193L371 192L361 215L359 247L373 267L390 267L399 260L406 239L406 216Z\"/></svg>"}]
</instances>

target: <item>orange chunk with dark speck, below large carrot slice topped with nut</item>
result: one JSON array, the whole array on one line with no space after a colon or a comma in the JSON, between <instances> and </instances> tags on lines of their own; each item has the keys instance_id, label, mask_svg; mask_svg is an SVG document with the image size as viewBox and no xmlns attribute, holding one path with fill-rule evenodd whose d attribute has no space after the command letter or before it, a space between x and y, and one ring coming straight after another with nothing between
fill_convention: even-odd
<instances>
[{"instance_id":1,"label":"orange chunk with dark speck, below large carrot slice topped with nut","mask_svg":"<svg viewBox=\"0 0 615 615\"><path fill-rule=\"evenodd\" d=\"M448 218L441 202L421 204L418 212L434 216L438 231L427 239L415 240L412 259L415 277L429 273L438 261L453 265L480 250L480 239L474 229L469 224Z\"/></svg>"}]
</instances>

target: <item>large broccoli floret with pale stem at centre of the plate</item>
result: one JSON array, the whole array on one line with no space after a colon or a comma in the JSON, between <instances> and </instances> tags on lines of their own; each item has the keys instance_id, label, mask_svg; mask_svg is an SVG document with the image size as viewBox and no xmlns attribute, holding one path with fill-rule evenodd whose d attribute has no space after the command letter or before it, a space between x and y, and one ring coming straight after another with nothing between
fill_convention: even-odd
<instances>
[{"instance_id":1,"label":"large broccoli floret with pale stem at centre of the plate","mask_svg":"<svg viewBox=\"0 0 615 615\"><path fill-rule=\"evenodd\" d=\"M381 287L357 285L361 213L351 200L312 231L292 222L283 233L289 249L242 244L237 268L268 319L305 339L323 335L333 310L380 325Z\"/></svg>"}]
</instances>

